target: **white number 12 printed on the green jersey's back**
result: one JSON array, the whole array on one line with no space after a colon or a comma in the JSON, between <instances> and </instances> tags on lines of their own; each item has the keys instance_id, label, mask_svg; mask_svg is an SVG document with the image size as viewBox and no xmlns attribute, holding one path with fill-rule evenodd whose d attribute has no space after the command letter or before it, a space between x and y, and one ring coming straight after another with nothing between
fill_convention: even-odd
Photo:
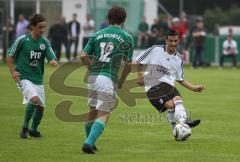
<instances>
[{"instance_id":1,"label":"white number 12 printed on the green jersey's back","mask_svg":"<svg viewBox=\"0 0 240 162\"><path fill-rule=\"evenodd\" d=\"M114 44L112 42L101 42L100 43L101 47L101 57L99 58L99 61L101 62L110 62L110 58L108 57L113 49L114 49Z\"/></svg>"}]
</instances>

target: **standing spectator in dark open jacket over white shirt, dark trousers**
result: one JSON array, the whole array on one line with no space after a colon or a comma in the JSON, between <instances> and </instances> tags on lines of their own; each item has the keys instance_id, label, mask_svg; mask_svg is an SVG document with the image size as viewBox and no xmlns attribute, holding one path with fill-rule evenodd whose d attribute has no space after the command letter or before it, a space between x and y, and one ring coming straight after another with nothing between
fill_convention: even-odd
<instances>
[{"instance_id":1,"label":"standing spectator in dark open jacket over white shirt, dark trousers","mask_svg":"<svg viewBox=\"0 0 240 162\"><path fill-rule=\"evenodd\" d=\"M70 40L69 40L69 50L71 51L71 46L74 44L74 59L77 58L77 52L78 52L78 43L79 43L79 34L80 34L80 23L77 21L77 14L73 14L73 20L69 22L68 25L68 31L70 35ZM71 53L71 52L70 52ZM70 60L71 57L70 55L67 56L67 59Z\"/></svg>"}]
</instances>

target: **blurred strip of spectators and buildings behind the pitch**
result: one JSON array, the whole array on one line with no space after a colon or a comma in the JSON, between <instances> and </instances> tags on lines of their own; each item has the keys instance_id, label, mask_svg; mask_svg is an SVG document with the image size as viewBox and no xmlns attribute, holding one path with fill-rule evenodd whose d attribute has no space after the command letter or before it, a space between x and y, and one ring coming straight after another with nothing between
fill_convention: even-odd
<instances>
[{"instance_id":1,"label":"blurred strip of spectators and buildings behind the pitch","mask_svg":"<svg viewBox=\"0 0 240 162\"><path fill-rule=\"evenodd\" d=\"M237 67L240 1L213 0L0 0L0 57L16 37L30 31L35 12L48 20L46 35L58 61L77 59L89 37L106 28L107 9L126 8L124 29L134 36L135 53L164 44L164 33L180 35L178 52L193 68L229 64ZM229 58L229 59L228 59Z\"/></svg>"}]
</instances>

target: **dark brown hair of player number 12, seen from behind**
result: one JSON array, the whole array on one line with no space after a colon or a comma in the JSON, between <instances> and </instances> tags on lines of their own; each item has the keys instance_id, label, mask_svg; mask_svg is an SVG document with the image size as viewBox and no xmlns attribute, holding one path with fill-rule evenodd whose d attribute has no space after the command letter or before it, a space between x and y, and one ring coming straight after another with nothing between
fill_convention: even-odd
<instances>
[{"instance_id":1,"label":"dark brown hair of player number 12, seen from behind","mask_svg":"<svg viewBox=\"0 0 240 162\"><path fill-rule=\"evenodd\" d=\"M117 24L120 25L125 22L127 13L123 7L113 6L108 11L108 22L111 25Z\"/></svg>"}]
</instances>

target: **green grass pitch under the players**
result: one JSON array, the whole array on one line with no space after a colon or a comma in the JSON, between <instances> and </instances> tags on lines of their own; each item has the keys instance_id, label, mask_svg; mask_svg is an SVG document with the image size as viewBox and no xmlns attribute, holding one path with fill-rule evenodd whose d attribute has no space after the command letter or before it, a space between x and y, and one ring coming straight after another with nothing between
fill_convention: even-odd
<instances>
[{"instance_id":1,"label":"green grass pitch under the players","mask_svg":"<svg viewBox=\"0 0 240 162\"><path fill-rule=\"evenodd\" d=\"M87 111L87 99L63 96L49 88L48 79L55 69L46 66L46 108L40 125L43 138L19 138L23 122L22 95L17 90L5 64L0 64L0 161L164 161L164 162L230 162L240 161L240 70L207 68L185 69L185 77L193 83L203 83L203 93L193 93L182 87L185 107L192 118L202 123L192 131L186 142L175 142L164 115L149 121L157 111L147 99L137 100L135 107L122 101L113 112L109 125L97 142L96 155L81 152L85 138L83 123L63 122L55 115L55 106L63 100L74 102L71 112ZM66 84L81 86L84 70L73 72ZM131 76L134 77L134 76ZM140 119L139 119L140 118Z\"/></svg>"}]
</instances>

